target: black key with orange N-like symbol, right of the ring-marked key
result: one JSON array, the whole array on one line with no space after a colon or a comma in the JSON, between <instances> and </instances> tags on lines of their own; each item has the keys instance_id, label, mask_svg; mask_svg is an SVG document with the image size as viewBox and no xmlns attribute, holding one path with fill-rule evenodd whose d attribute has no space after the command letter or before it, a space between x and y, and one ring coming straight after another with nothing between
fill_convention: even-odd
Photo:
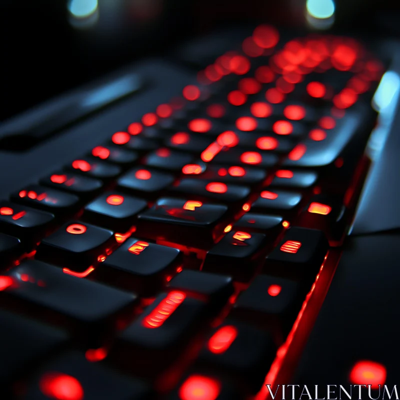
<instances>
[{"instance_id":1,"label":"black key with orange N-like symbol, right of the ring-marked key","mask_svg":"<svg viewBox=\"0 0 400 400\"><path fill-rule=\"evenodd\" d=\"M104 282L150 296L181 268L177 248L161 246L130 237L97 269Z\"/></svg>"}]
</instances>

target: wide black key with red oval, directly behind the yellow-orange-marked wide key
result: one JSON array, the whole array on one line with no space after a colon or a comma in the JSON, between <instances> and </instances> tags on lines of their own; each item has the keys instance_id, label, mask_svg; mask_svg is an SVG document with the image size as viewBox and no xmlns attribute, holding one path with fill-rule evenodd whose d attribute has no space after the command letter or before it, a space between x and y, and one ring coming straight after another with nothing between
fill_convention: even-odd
<instances>
[{"instance_id":1,"label":"wide black key with red oval, directly behind the yellow-orange-marked wide key","mask_svg":"<svg viewBox=\"0 0 400 400\"><path fill-rule=\"evenodd\" d=\"M177 193L194 200L206 200L207 198L226 203L243 202L250 194L247 186L219 181L208 182L202 179L183 178L168 190L172 195Z\"/></svg>"}]
</instances>

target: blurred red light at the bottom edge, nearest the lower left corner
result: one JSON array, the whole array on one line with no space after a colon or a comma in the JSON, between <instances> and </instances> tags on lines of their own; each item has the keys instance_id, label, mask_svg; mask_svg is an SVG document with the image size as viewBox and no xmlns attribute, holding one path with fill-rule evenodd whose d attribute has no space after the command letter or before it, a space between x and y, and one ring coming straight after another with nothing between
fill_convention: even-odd
<instances>
[{"instance_id":1,"label":"blurred red light at the bottom edge, nearest the lower left corner","mask_svg":"<svg viewBox=\"0 0 400 400\"><path fill-rule=\"evenodd\" d=\"M60 372L48 372L40 381L41 392L57 400L83 400L83 388L79 381L71 375Z\"/></svg>"}]
</instances>

